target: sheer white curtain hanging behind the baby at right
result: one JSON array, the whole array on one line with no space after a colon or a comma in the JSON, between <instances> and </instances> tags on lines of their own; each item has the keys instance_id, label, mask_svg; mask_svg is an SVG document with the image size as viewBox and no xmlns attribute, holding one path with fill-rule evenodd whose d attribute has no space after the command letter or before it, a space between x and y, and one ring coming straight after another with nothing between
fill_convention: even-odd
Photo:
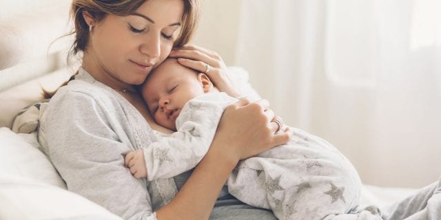
<instances>
[{"instance_id":1,"label":"sheer white curtain hanging behind the baby at right","mask_svg":"<svg viewBox=\"0 0 441 220\"><path fill-rule=\"evenodd\" d=\"M236 65L287 124L325 138L362 180L441 175L441 1L243 0Z\"/></svg>"}]
</instances>

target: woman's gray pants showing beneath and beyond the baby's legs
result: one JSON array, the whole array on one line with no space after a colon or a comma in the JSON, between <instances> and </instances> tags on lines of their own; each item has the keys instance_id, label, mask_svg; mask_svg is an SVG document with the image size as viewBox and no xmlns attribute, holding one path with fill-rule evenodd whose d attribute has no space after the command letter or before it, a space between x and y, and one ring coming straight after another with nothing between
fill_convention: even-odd
<instances>
[{"instance_id":1,"label":"woman's gray pants showing beneath and beyond the baby's legs","mask_svg":"<svg viewBox=\"0 0 441 220\"><path fill-rule=\"evenodd\" d=\"M223 193L227 194L225 190ZM221 193L222 194L222 193ZM275 220L271 210L263 210L248 206L225 195L220 197L210 219L214 220ZM441 219L441 179L429 186L421 188L413 195L378 210L375 206L364 206L354 209L349 214L338 214L326 219L345 220L435 220Z\"/></svg>"}]
</instances>

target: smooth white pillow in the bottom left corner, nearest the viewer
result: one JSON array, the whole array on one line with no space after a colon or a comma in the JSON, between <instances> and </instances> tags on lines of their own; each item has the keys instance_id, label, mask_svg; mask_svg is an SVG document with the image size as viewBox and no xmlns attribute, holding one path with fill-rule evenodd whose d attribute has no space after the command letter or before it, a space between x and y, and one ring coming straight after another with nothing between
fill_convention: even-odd
<instances>
[{"instance_id":1,"label":"smooth white pillow in the bottom left corner, nearest the viewer","mask_svg":"<svg viewBox=\"0 0 441 220\"><path fill-rule=\"evenodd\" d=\"M122 220L62 188L19 177L0 177L0 219Z\"/></svg>"}]
</instances>

